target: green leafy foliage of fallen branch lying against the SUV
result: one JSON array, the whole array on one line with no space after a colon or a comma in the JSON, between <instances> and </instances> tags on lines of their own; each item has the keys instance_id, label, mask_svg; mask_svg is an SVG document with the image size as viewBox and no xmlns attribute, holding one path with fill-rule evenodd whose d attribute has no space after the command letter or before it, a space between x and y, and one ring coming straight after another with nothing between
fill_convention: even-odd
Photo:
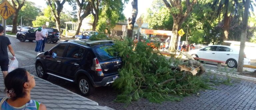
<instances>
[{"instance_id":1,"label":"green leafy foliage of fallen branch lying against the SUV","mask_svg":"<svg viewBox=\"0 0 256 110\"><path fill-rule=\"evenodd\" d=\"M181 63L179 59L170 58L153 52L145 43L132 40L116 41L111 55L122 58L122 68L119 78L113 86L120 91L115 101L129 104L139 98L147 98L151 102L161 103L165 100L178 101L183 96L196 93L201 89L210 88L201 76L190 76L183 72L171 70L171 67ZM134 50L135 49L135 50ZM170 80L166 84L161 84Z\"/></svg>"}]
</instances>

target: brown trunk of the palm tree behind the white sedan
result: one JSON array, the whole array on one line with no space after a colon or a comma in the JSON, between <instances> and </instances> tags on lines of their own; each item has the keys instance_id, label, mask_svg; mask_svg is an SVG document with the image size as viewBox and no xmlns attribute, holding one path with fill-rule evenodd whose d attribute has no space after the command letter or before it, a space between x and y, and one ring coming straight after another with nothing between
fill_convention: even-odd
<instances>
[{"instance_id":1,"label":"brown trunk of the palm tree behind the white sedan","mask_svg":"<svg viewBox=\"0 0 256 110\"><path fill-rule=\"evenodd\" d=\"M228 40L228 34L229 34L229 25L230 25L230 19L231 19L231 15L228 15L228 13L226 12L224 15L224 25L223 25L223 43L222 45L229 45L229 43L224 42Z\"/></svg>"}]
</instances>

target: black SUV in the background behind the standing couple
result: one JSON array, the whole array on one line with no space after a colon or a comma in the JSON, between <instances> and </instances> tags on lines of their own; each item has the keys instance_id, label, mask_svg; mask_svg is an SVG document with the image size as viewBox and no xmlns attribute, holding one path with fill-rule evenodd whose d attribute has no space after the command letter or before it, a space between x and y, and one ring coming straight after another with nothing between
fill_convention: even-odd
<instances>
[{"instance_id":1,"label":"black SUV in the background behind the standing couple","mask_svg":"<svg viewBox=\"0 0 256 110\"><path fill-rule=\"evenodd\" d=\"M28 31L19 31L16 34L16 39L19 39L21 42L25 42L26 40L33 41L36 40L36 31L39 27L34 27L29 29ZM54 28L46 28L48 30L48 36L46 37L46 43L56 43L60 40L60 32Z\"/></svg>"}]
</instances>

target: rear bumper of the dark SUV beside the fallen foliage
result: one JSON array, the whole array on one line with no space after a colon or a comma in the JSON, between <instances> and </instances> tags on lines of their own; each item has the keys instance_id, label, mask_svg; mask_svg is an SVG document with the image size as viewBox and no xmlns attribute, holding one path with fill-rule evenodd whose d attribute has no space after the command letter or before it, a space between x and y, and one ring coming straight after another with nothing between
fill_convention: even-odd
<instances>
[{"instance_id":1,"label":"rear bumper of the dark SUV beside the fallen foliage","mask_svg":"<svg viewBox=\"0 0 256 110\"><path fill-rule=\"evenodd\" d=\"M116 76L118 76L118 74L108 76L108 77L104 77L101 82L94 82L95 87L107 86L107 85L113 83L114 82L113 77L116 77Z\"/></svg>"}]
</instances>

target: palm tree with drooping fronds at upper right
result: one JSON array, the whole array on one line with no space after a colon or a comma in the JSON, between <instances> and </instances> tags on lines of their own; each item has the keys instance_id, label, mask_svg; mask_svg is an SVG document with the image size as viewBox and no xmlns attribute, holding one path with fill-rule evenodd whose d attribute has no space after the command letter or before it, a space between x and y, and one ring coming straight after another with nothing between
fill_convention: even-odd
<instances>
[{"instance_id":1,"label":"palm tree with drooping fronds at upper right","mask_svg":"<svg viewBox=\"0 0 256 110\"><path fill-rule=\"evenodd\" d=\"M211 7L215 17L224 17L223 41L228 40L231 18L241 21L244 13L245 0L213 0ZM253 10L252 3L250 9ZM228 45L223 42L222 45Z\"/></svg>"}]
</instances>

